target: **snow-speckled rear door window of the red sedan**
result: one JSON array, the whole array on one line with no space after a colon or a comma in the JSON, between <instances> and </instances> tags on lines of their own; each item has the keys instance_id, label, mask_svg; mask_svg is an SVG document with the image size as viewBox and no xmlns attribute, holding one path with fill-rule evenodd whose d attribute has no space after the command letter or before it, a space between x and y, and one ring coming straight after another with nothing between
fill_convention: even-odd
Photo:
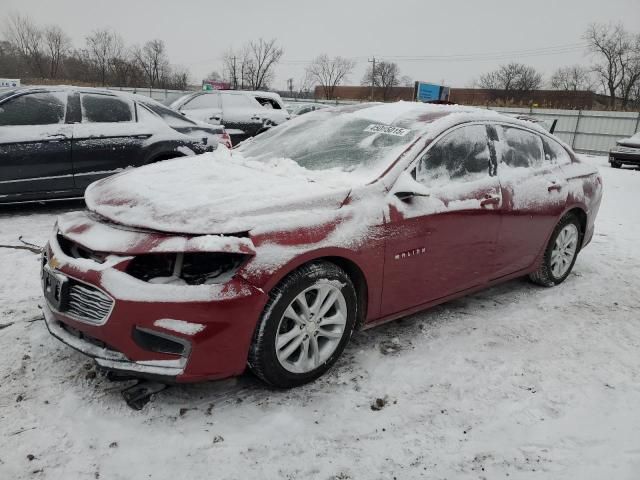
<instances>
[{"instance_id":1,"label":"snow-speckled rear door window of the red sedan","mask_svg":"<svg viewBox=\"0 0 640 480\"><path fill-rule=\"evenodd\" d=\"M542 139L520 128L498 128L500 141L496 151L500 161L512 168L538 168L544 160Z\"/></svg>"}]
</instances>

